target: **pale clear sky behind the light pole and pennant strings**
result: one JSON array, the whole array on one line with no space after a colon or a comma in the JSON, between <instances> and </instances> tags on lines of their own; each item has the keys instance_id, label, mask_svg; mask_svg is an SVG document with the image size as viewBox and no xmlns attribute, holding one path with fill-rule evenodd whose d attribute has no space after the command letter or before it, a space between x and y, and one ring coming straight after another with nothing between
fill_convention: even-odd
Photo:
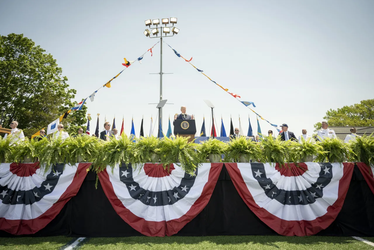
<instances>
[{"instance_id":1,"label":"pale clear sky behind the light pole and pennant strings","mask_svg":"<svg viewBox=\"0 0 374 250\"><path fill-rule=\"evenodd\" d=\"M77 90L78 102L119 73L123 57L136 60L157 39L144 36L144 20L177 17L178 35L165 41L183 57L191 58L218 84L252 101L254 110L273 124L287 123L295 135L322 120L326 111L374 98L374 1L0 1L0 34L23 33L52 54ZM144 132L159 101L160 43L153 56L145 54L102 88L88 112L106 115L125 132ZM218 129L223 117L226 133L230 115L234 126L257 131L256 115L220 87L178 58L163 44L163 130L168 116L196 116L197 134L215 105ZM47 125L47 124L46 124ZM263 133L272 129L260 119ZM21 126L20 126L21 127ZM157 127L157 126L156 126ZM273 129L275 131L275 129Z\"/></svg>"}]
</instances>

